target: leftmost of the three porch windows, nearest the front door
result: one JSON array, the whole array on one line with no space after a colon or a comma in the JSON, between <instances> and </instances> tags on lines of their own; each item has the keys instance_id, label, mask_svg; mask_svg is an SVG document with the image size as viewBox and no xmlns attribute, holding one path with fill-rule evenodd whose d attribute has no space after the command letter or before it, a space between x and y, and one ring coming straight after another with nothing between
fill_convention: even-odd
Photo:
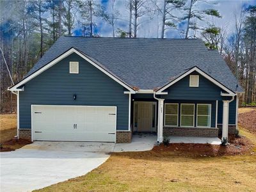
<instances>
[{"instance_id":1,"label":"leftmost of the three porch windows, nearest the front door","mask_svg":"<svg viewBox=\"0 0 256 192\"><path fill-rule=\"evenodd\" d=\"M178 126L179 105L176 103L165 104L164 126Z\"/></svg>"}]
</instances>

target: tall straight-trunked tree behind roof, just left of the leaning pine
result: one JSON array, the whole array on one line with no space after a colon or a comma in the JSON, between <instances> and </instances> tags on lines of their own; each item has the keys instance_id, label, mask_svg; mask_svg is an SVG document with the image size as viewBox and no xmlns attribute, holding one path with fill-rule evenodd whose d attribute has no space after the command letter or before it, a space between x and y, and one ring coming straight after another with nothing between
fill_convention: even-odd
<instances>
[{"instance_id":1,"label":"tall straight-trunked tree behind roof, just left of the leaning pine","mask_svg":"<svg viewBox=\"0 0 256 192\"><path fill-rule=\"evenodd\" d=\"M179 17L173 15L172 11L175 9L182 8L186 1L184 0L164 0L163 10L158 10L162 13L162 28L161 28L161 38L164 38L164 31L166 28L176 28L175 22L179 21Z\"/></svg>"}]
</instances>

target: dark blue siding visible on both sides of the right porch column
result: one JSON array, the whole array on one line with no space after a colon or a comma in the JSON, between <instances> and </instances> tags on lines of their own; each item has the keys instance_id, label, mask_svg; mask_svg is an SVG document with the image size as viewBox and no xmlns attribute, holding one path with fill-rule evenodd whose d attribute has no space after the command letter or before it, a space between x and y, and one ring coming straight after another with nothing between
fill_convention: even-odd
<instances>
[{"instance_id":1,"label":"dark blue siding visible on both sides of the right porch column","mask_svg":"<svg viewBox=\"0 0 256 192\"><path fill-rule=\"evenodd\" d=\"M219 101L219 105L218 105L218 124L222 124L222 117L223 117L222 111L223 111L223 102ZM234 125L236 124L236 97L229 104L228 124L234 124Z\"/></svg>"}]
</instances>

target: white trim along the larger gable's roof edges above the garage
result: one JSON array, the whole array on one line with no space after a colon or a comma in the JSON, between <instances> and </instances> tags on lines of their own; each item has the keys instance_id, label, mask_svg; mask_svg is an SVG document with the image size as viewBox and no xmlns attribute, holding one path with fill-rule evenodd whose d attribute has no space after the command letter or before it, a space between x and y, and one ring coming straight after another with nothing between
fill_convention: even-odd
<instances>
[{"instance_id":1,"label":"white trim along the larger gable's roof edges above the garage","mask_svg":"<svg viewBox=\"0 0 256 192\"><path fill-rule=\"evenodd\" d=\"M64 58L66 58L67 56L69 56L72 53L76 53L79 56L81 56L81 58L83 58L84 60L88 61L89 63L91 63L94 67L98 68L100 71L104 72L104 74L106 74L107 76L111 77L111 79L115 80L117 83L121 84L122 86L124 86L124 88L127 88L127 90L129 90L131 93L135 93L134 90L132 90L132 88L130 86L128 86L127 84L125 84L124 82L120 81L118 78L116 78L115 76L113 76L112 74L110 74L107 70L105 70L104 68L100 67L97 63L95 63L94 61L92 61L90 58L88 58L87 56L85 56L85 54L82 54L81 52L77 51L74 48L69 49L68 51L64 52L63 54L61 54L61 56L58 56L58 58L56 58L55 60L51 61L50 63L48 63L47 65L45 65L44 67L40 68L39 70L37 70L36 72L34 72L33 74L31 74L30 76L26 77L25 79L23 79L22 81L20 81L19 83L15 84L12 88L9 88L8 90L10 91L16 91L17 88L19 86L22 86L23 84L27 83L28 81L30 81L31 79L33 79L34 77L38 76L39 74L41 74L42 72L44 72L45 70L47 70L48 68L52 67L53 65L55 65L56 63L58 63L59 61L63 60Z\"/></svg>"}]
</instances>

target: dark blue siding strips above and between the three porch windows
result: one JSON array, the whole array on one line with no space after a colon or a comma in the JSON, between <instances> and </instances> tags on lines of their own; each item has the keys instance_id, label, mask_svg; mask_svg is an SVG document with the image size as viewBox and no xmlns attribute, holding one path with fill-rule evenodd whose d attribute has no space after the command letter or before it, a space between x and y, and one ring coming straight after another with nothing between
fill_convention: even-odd
<instances>
[{"instance_id":1,"label":"dark blue siding strips above and between the three porch windows","mask_svg":"<svg viewBox=\"0 0 256 192\"><path fill-rule=\"evenodd\" d=\"M179 103L179 126L180 126L180 104L195 104L195 127L196 127L196 104L211 104L211 127L215 127L216 101L212 100L164 100L164 103ZM164 110L165 111L165 110Z\"/></svg>"}]
</instances>

